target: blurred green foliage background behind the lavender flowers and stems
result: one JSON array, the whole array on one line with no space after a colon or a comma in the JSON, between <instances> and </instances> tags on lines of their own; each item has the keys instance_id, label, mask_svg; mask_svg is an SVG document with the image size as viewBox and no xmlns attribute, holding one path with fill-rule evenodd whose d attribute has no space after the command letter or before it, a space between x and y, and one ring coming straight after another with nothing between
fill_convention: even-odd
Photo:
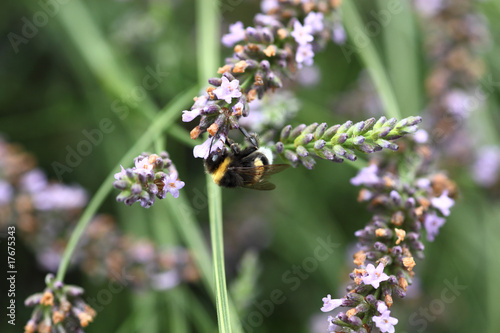
<instances>
[{"instance_id":1,"label":"blurred green foliage background behind the lavender flowers and stems","mask_svg":"<svg viewBox=\"0 0 500 333\"><path fill-rule=\"evenodd\" d=\"M84 139L84 130L99 128L103 119L110 119L114 129L71 173L62 176L63 182L81 184L92 195L146 130L148 115L197 85L197 53L204 52L196 43L201 18L196 15L194 1L50 3L52 7L8 0L0 5L0 133L32 152L39 166L56 179L53 163L64 163L67 147L76 147ZM385 6L382 1L356 3L365 19L370 19L371 11ZM221 34L227 32L228 24L238 20L250 25L253 15L259 12L258 1L222 0L221 5ZM403 13L372 40L394 84L402 113L409 116L425 108L423 87L429 65L417 18L409 6L404 7ZM477 10L488 18L492 34L491 47L484 53L487 73L494 82L500 82L500 5L498 1L485 2L478 4ZM46 22L40 11L48 13ZM26 22L37 19L40 26L30 30ZM10 33L32 37L16 39L14 46ZM294 86L302 109L293 124L334 124L372 116L363 109L336 112L339 98L356 85L363 70L358 57L347 59L344 51L333 43L328 45L315 58L320 82L309 87ZM230 50L221 52L220 64ZM138 91L134 87L140 87L151 70L166 74L147 94L134 95ZM488 96L483 113L472 116L468 138L473 145L499 144L495 137L475 141L476 133L485 126L498 134L499 97L497 86ZM189 106L187 103L184 108ZM180 117L177 123L191 129L181 124ZM169 134L164 139L186 182L181 196L189 202L198 191L206 193L203 166L192 157L192 148ZM498 332L498 191L476 186L467 161L441 167L459 183L461 197L436 242L427 245L426 260L417 262L419 280L414 296L395 302L393 314L399 319L396 331ZM252 321L253 312L266 313L259 307L268 304L273 291L282 291L285 299L269 310L259 327L247 332L326 332L327 316L319 310L321 298L328 293L343 295L353 268L353 233L370 219L370 213L356 201L358 189L349 184L355 174L356 169L348 164L319 161L312 171L297 168L276 175L277 189L270 193L223 191L227 278L229 285L239 283L240 289L235 289L236 295L232 296L246 304L241 313L244 325ZM115 195L113 191L99 211L115 215L126 233L155 239L155 224L174 232L168 226L171 219L161 207L124 207L115 203ZM197 211L195 218L208 235L206 208ZM336 244L328 259L318 261L317 268L305 275L294 272L294 267L314 257L314 249L320 244L318 238L327 237ZM162 242L180 242L178 239L173 236ZM5 253L4 242L1 249ZM16 326L8 325L3 316L2 332L22 331L31 313L22 302L44 287L46 272L37 268L34 254L21 240L16 249ZM246 266L242 266L242 258L246 258ZM77 270L70 271L66 281L83 286L90 297L107 288L108 283L89 279ZM465 287L452 302L440 302L448 282ZM5 279L0 286L4 293ZM1 308L5 309L4 295L1 298ZM192 313L200 307L206 316ZM423 320L423 311L429 307L431 317ZM86 332L213 332L216 327L215 307L208 292L201 283L191 283L162 292L123 290L99 311Z\"/></svg>"}]
</instances>

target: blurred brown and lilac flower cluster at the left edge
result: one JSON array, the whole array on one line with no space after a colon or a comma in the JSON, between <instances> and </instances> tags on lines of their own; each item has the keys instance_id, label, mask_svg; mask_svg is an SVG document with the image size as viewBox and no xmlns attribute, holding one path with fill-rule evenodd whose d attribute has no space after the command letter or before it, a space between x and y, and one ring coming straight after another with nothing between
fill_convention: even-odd
<instances>
[{"instance_id":1,"label":"blurred brown and lilac flower cluster at the left edge","mask_svg":"<svg viewBox=\"0 0 500 333\"><path fill-rule=\"evenodd\" d=\"M41 267L57 269L86 204L82 187L49 180L32 154L0 141L0 230L15 225Z\"/></svg>"}]
</instances>

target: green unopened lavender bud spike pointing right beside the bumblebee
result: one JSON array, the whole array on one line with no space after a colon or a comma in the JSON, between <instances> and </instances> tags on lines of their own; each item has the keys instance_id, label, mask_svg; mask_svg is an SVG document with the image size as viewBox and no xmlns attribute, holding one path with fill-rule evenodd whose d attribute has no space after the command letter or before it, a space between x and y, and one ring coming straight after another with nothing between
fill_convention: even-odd
<instances>
[{"instance_id":1,"label":"green unopened lavender bud spike pointing right beside the bumblebee","mask_svg":"<svg viewBox=\"0 0 500 333\"><path fill-rule=\"evenodd\" d=\"M408 117L397 121L395 118L381 117L378 121L370 118L353 124L347 121L342 125L328 127L326 123L295 128L288 125L281 131L280 141L275 148L282 158L296 166L314 167L314 157L343 162L344 158L355 161L355 151L373 153L383 148L397 150L398 145L391 142L417 131L420 117Z\"/></svg>"}]
</instances>

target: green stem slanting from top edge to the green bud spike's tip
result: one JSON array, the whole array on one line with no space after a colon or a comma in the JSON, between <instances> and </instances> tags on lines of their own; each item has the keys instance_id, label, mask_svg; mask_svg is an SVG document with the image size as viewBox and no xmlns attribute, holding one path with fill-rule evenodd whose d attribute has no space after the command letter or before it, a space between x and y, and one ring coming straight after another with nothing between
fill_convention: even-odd
<instances>
[{"instance_id":1,"label":"green stem slanting from top edge to the green bud spike's tip","mask_svg":"<svg viewBox=\"0 0 500 333\"><path fill-rule=\"evenodd\" d=\"M364 62L366 69L373 79L375 87L380 94L380 99L385 105L386 115L388 117L401 118L401 112L399 111L398 103L394 96L394 90L388 75L384 70L384 66L377 54L373 42L370 40L370 37L363 32L365 24L361 20L354 2L343 1L342 9L344 13L343 22L347 33L351 37L350 41L354 43L359 57ZM359 37L358 34L361 34L364 38L356 38Z\"/></svg>"}]
</instances>

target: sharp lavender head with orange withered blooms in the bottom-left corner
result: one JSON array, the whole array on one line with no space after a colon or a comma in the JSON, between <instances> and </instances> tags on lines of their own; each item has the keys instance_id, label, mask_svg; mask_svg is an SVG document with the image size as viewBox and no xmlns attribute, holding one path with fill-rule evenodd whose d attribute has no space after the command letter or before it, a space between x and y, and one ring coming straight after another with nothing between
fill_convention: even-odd
<instances>
[{"instance_id":1,"label":"sharp lavender head with orange withered blooms in the bottom-left corner","mask_svg":"<svg viewBox=\"0 0 500 333\"><path fill-rule=\"evenodd\" d=\"M43 293L31 295L24 302L26 306L35 306L24 332L83 332L97 315L83 301L83 289L65 285L52 274L47 275L45 283Z\"/></svg>"}]
</instances>

